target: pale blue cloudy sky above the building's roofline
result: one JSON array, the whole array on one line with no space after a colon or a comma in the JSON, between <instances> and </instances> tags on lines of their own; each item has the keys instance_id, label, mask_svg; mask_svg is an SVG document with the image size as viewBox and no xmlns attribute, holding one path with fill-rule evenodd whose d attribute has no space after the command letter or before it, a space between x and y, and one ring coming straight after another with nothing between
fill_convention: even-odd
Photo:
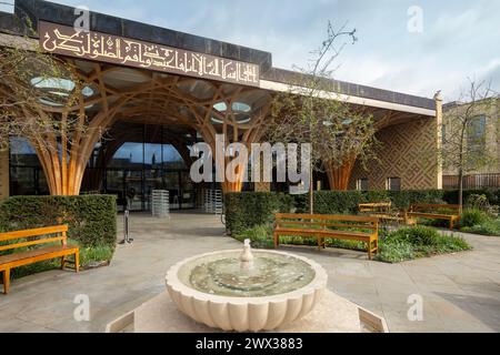
<instances>
[{"instance_id":1,"label":"pale blue cloudy sky above the building's roofline","mask_svg":"<svg viewBox=\"0 0 500 355\"><path fill-rule=\"evenodd\" d=\"M53 2L269 51L282 69L308 64L328 21L348 22L358 42L337 59L338 80L429 98L442 90L447 101L460 99L468 78L500 91L500 0Z\"/></svg>"}]
</instances>

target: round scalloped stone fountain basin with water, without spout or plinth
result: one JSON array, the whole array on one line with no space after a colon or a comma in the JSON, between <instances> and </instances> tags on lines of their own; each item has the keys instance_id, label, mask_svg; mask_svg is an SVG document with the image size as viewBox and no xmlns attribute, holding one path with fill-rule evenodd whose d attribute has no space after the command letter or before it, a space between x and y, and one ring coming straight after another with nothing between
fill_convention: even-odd
<instances>
[{"instance_id":1,"label":"round scalloped stone fountain basin with water, without spout or plinth","mask_svg":"<svg viewBox=\"0 0 500 355\"><path fill-rule=\"evenodd\" d=\"M174 265L167 288L179 310L198 323L227 332L272 331L308 315L327 287L318 263L289 253L241 251L203 254Z\"/></svg>"}]
</instances>

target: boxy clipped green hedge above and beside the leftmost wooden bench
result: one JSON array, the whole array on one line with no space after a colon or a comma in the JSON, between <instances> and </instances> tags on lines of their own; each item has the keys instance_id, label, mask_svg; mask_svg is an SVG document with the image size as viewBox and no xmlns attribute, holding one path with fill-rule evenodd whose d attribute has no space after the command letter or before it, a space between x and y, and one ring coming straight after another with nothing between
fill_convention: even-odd
<instances>
[{"instance_id":1,"label":"boxy clipped green hedge above and beside the leftmost wooden bench","mask_svg":"<svg viewBox=\"0 0 500 355\"><path fill-rule=\"evenodd\" d=\"M117 244L117 201L109 195L16 196L0 203L3 232L62 224L83 246Z\"/></svg>"}]
</instances>

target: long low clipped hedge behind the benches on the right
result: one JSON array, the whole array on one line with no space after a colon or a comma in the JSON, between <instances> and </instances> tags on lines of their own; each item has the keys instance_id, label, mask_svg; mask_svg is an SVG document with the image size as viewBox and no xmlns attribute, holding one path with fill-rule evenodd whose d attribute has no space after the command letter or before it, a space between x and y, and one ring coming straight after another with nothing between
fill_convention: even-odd
<instances>
[{"instance_id":1,"label":"long low clipped hedge behind the benches on the right","mask_svg":"<svg viewBox=\"0 0 500 355\"><path fill-rule=\"evenodd\" d=\"M464 201L471 194L486 195L492 205L500 204L500 190L464 191ZM458 203L458 191L318 191L314 193L314 213L357 214L360 203L392 201L396 209L404 210L413 203ZM229 231L238 234L273 220L277 212L309 212L309 195L281 193L230 193L226 195L226 220Z\"/></svg>"}]
</instances>

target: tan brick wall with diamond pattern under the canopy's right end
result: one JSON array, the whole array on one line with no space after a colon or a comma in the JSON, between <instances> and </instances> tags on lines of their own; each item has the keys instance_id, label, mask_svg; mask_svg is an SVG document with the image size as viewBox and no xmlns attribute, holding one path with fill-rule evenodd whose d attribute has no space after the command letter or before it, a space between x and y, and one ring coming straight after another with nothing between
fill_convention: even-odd
<instances>
[{"instance_id":1,"label":"tan brick wall with diamond pattern under the canopy's right end","mask_svg":"<svg viewBox=\"0 0 500 355\"><path fill-rule=\"evenodd\" d=\"M438 189L437 124L434 119L414 120L377 133L379 161L357 164L349 187L369 179L370 190L386 190L389 178L400 178L403 190Z\"/></svg>"}]
</instances>

